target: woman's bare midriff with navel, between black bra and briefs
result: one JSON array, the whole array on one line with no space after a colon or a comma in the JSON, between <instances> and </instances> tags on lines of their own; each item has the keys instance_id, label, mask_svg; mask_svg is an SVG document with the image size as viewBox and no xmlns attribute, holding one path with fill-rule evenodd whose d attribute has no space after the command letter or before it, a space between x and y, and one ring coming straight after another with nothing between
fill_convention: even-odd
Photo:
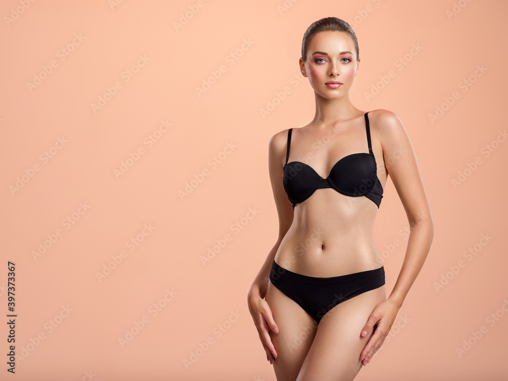
<instances>
[{"instance_id":1,"label":"woman's bare midriff with navel, between black bra and briefs","mask_svg":"<svg viewBox=\"0 0 508 381\"><path fill-rule=\"evenodd\" d=\"M332 277L383 266L372 235L377 205L332 188L296 204L275 262L298 274Z\"/></svg>"}]
</instances>

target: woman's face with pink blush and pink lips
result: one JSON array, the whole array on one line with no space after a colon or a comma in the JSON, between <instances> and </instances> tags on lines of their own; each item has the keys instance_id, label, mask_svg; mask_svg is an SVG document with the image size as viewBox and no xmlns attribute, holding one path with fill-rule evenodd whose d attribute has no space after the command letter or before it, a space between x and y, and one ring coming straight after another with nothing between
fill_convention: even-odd
<instances>
[{"instance_id":1,"label":"woman's face with pink blush and pink lips","mask_svg":"<svg viewBox=\"0 0 508 381\"><path fill-rule=\"evenodd\" d=\"M300 58L300 68L308 77L315 92L324 98L342 97L353 85L358 73L356 49L350 35L341 31L323 31L316 34L307 50L307 61ZM340 85L327 85L338 81Z\"/></svg>"}]
</instances>

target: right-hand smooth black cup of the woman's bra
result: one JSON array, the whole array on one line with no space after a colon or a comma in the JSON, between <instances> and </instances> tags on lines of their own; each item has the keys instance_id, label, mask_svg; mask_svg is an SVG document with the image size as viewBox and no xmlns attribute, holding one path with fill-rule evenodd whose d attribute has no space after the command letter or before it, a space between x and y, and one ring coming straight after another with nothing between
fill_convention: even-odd
<instances>
[{"instance_id":1,"label":"right-hand smooth black cup of the woman's bra","mask_svg":"<svg viewBox=\"0 0 508 381\"><path fill-rule=\"evenodd\" d=\"M374 186L377 168L369 153L355 153L337 162L328 178L341 193L363 196Z\"/></svg>"}]
</instances>

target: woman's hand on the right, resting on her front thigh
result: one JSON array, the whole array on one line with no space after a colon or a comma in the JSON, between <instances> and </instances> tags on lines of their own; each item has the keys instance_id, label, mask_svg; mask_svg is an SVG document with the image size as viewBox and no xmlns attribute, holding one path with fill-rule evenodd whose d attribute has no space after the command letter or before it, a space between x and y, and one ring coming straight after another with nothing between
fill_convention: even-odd
<instances>
[{"instance_id":1,"label":"woman's hand on the right, resting on her front thigh","mask_svg":"<svg viewBox=\"0 0 508 381\"><path fill-rule=\"evenodd\" d=\"M395 321L395 316L397 316L399 308L399 306L387 299L379 303L370 314L367 324L362 329L362 337L367 336L370 330L374 328L374 325L377 325L377 327L374 328L374 334L370 337L370 340L360 354L360 360L363 365L367 365L370 362L374 353L377 352L381 344L385 341Z\"/></svg>"}]
</instances>

